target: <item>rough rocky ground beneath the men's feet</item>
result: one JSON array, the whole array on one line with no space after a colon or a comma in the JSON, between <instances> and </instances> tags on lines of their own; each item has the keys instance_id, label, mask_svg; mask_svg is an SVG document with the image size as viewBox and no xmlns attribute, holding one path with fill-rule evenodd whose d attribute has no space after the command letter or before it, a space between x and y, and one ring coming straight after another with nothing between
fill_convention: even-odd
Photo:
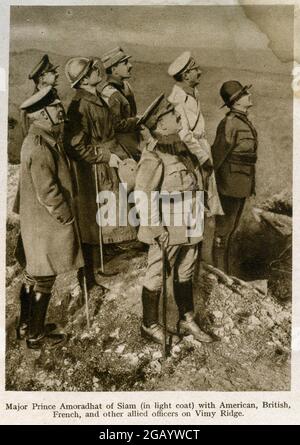
<instances>
[{"instance_id":1,"label":"rough rocky ground beneath the men's feet","mask_svg":"<svg viewBox=\"0 0 300 445\"><path fill-rule=\"evenodd\" d=\"M265 209L273 209L270 203L266 206ZM122 253L107 258L109 270L118 271L116 276L103 279L109 291L90 291L89 330L74 275L59 277L49 320L64 326L68 340L59 347L49 342L41 351L32 351L15 339L21 270L12 256L18 223L10 214L7 228L7 390L289 390L289 250L280 260L284 273L278 272L274 278L270 271L269 286L266 280L245 283L202 265L195 282L198 318L216 341L201 344L186 337L164 361L160 346L140 336L140 291L146 252L139 244L131 244ZM277 285L271 286L275 279ZM171 295L169 299L170 318L175 319Z\"/></svg>"}]
</instances>

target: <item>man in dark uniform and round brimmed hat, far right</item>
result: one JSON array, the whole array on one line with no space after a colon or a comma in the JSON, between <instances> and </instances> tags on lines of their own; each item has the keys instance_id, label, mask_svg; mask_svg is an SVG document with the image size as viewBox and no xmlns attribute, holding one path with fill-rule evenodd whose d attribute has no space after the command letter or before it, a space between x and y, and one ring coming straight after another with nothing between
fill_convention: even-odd
<instances>
[{"instance_id":1,"label":"man in dark uniform and round brimmed hat, far right","mask_svg":"<svg viewBox=\"0 0 300 445\"><path fill-rule=\"evenodd\" d=\"M216 218L215 265L231 273L230 249L242 216L246 198L255 191L257 132L248 119L252 106L249 88L236 80L225 82L220 95L229 108L218 128L212 146L217 186L224 216Z\"/></svg>"}]
</instances>

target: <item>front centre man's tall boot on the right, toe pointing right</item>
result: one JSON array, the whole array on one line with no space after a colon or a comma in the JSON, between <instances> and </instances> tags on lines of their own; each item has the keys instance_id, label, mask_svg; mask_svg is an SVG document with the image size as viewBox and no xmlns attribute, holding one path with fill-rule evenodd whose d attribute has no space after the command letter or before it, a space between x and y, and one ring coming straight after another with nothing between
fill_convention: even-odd
<instances>
[{"instance_id":1,"label":"front centre man's tall boot on the right, toe pointing right","mask_svg":"<svg viewBox=\"0 0 300 445\"><path fill-rule=\"evenodd\" d=\"M212 342L213 339L195 322L192 280L183 283L174 281L174 298L179 312L178 333L184 336L193 335L196 340L204 343Z\"/></svg>"}]
</instances>

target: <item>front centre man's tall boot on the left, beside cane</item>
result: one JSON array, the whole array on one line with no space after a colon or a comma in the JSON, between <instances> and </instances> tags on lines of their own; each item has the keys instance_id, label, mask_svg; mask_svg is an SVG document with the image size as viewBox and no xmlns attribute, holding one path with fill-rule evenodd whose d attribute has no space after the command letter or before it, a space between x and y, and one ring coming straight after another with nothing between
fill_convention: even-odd
<instances>
[{"instance_id":1,"label":"front centre man's tall boot on the left, beside cane","mask_svg":"<svg viewBox=\"0 0 300 445\"><path fill-rule=\"evenodd\" d=\"M160 290L152 291L143 287L142 304L143 304L143 322L141 325L141 334L148 340L155 343L163 344L164 332L158 323Z\"/></svg>"}]
</instances>

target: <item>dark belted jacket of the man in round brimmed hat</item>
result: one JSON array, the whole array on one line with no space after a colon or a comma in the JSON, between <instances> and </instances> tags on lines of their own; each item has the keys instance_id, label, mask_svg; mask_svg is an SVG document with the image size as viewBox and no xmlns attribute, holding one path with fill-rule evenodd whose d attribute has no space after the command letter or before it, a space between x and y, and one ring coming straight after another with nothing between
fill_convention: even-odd
<instances>
[{"instance_id":1,"label":"dark belted jacket of the man in round brimmed hat","mask_svg":"<svg viewBox=\"0 0 300 445\"><path fill-rule=\"evenodd\" d=\"M219 193L247 198L255 193L257 132L246 113L232 109L220 122L212 155Z\"/></svg>"}]
</instances>

